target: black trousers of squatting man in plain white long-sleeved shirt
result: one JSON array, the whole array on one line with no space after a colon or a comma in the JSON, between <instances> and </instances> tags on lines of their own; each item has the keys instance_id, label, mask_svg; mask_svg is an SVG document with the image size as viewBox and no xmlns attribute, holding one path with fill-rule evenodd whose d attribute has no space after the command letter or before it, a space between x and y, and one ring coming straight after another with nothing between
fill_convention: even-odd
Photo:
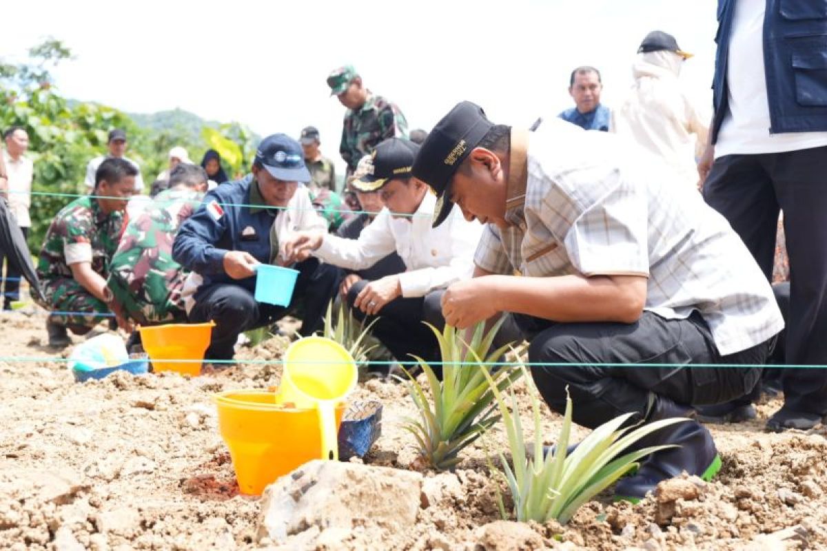
<instances>
[{"instance_id":1,"label":"black trousers of squatting man in plain white long-sleeved shirt","mask_svg":"<svg viewBox=\"0 0 827 551\"><path fill-rule=\"evenodd\" d=\"M347 305L351 306L353 315L358 320L365 320L366 316L363 311L354 307L353 303L368 283L370 282L362 279L354 283L347 292ZM373 321L374 317L379 318L371 332L385 344L390 354L394 354L394 358L399 362L404 362L405 365L414 362L411 354L428 362L438 362L442 359L442 354L439 352L437 337L423 321L427 321L438 330L445 327L445 318L442 317L444 293L444 289L439 289L429 292L424 297L394 298L385 304L377 316L367 316L366 323Z\"/></svg>"}]
</instances>

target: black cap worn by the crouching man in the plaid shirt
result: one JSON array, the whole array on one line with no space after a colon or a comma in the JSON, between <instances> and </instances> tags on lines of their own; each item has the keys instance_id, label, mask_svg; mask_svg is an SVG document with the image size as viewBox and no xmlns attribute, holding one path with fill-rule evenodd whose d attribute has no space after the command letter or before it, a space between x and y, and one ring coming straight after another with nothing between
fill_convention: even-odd
<instances>
[{"instance_id":1,"label":"black cap worn by the crouching man in the plaid shirt","mask_svg":"<svg viewBox=\"0 0 827 551\"><path fill-rule=\"evenodd\" d=\"M433 212L433 227L442 224L451 213L451 179L462 161L493 127L482 107L460 102L437 122L423 142L414 162L413 174L431 186L439 197Z\"/></svg>"}]
</instances>

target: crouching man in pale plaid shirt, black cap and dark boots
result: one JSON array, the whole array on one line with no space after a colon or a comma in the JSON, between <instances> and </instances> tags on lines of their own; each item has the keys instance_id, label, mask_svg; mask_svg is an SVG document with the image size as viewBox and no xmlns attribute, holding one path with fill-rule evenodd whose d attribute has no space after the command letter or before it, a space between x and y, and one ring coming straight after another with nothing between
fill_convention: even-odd
<instances>
[{"instance_id":1,"label":"crouching man in pale plaid shirt, black cap and dark boots","mask_svg":"<svg viewBox=\"0 0 827 551\"><path fill-rule=\"evenodd\" d=\"M784 325L772 289L724 218L653 156L559 121L529 139L461 102L428 136L414 176L440 195L434 224L452 203L488 224L475 278L442 298L447 323L512 312L553 410L564 411L567 388L580 425L627 412L651 422L758 382ZM634 365L643 363L652 365ZM636 447L662 444L676 447L649 456L617 496L636 500L682 471L709 480L720 468L696 420Z\"/></svg>"}]
</instances>

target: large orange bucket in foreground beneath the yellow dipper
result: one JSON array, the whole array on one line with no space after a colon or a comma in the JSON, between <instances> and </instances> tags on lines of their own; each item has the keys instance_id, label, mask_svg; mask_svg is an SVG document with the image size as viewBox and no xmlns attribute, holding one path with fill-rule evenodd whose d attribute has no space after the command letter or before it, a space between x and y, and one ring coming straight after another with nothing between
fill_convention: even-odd
<instances>
[{"instance_id":1,"label":"large orange bucket in foreground beneath the yellow dipper","mask_svg":"<svg viewBox=\"0 0 827 551\"><path fill-rule=\"evenodd\" d=\"M260 496L278 477L322 458L317 409L277 406L274 393L261 390L219 392L213 400L241 493ZM337 406L337 428L344 411Z\"/></svg>"}]
</instances>

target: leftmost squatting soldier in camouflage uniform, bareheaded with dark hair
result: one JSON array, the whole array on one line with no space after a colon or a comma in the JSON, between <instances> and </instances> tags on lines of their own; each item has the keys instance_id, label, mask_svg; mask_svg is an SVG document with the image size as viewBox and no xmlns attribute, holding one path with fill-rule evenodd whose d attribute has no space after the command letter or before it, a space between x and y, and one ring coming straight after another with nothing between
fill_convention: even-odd
<instances>
[{"instance_id":1,"label":"leftmost squatting soldier in camouflage uniform, bareheaded with dark hair","mask_svg":"<svg viewBox=\"0 0 827 551\"><path fill-rule=\"evenodd\" d=\"M55 312L46 319L51 346L69 344L67 329L84 335L108 317L102 315L112 300L106 286L109 262L136 175L127 160L104 160L95 173L93 195L70 202L46 230L37 275L44 294L39 304Z\"/></svg>"}]
</instances>

